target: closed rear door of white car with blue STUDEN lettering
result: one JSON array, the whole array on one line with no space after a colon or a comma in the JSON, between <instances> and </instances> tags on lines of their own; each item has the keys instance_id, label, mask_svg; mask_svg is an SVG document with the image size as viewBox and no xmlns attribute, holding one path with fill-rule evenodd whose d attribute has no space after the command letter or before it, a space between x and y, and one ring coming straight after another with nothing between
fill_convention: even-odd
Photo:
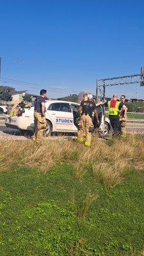
<instances>
[{"instance_id":1,"label":"closed rear door of white car with blue STUDEN lettering","mask_svg":"<svg viewBox=\"0 0 144 256\"><path fill-rule=\"evenodd\" d=\"M74 118L70 104L67 102L54 102L49 105L47 113L57 131L72 131Z\"/></svg>"}]
</instances>

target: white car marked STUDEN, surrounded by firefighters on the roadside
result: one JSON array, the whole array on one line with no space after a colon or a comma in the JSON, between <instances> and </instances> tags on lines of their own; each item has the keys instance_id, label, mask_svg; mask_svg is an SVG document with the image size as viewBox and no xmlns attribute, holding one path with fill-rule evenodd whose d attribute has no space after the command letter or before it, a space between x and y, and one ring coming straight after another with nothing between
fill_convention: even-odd
<instances>
[{"instance_id":1,"label":"white car marked STUDEN, surrounded by firefighters on the roadside","mask_svg":"<svg viewBox=\"0 0 144 256\"><path fill-rule=\"evenodd\" d=\"M77 118L79 117L79 104L61 100L47 100L45 102L45 118L47 120L47 130L45 136L51 136L52 132L77 133ZM109 119L104 121L104 111L101 106L97 108L100 120L99 131L106 135L109 133ZM21 116L8 117L6 127L19 129L22 132L34 131L34 106L25 108Z\"/></svg>"}]
</instances>

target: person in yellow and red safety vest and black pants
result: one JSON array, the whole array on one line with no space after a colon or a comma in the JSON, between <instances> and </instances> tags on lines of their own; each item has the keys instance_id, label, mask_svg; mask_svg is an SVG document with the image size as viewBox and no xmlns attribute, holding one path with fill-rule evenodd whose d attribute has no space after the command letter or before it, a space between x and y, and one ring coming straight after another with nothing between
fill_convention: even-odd
<instances>
[{"instance_id":1,"label":"person in yellow and red safety vest and black pants","mask_svg":"<svg viewBox=\"0 0 144 256\"><path fill-rule=\"evenodd\" d=\"M117 100L118 95L114 94L113 99L108 101L108 114L111 126L113 128L113 137L117 137L120 134L120 117L119 106L120 102Z\"/></svg>"}]
</instances>

